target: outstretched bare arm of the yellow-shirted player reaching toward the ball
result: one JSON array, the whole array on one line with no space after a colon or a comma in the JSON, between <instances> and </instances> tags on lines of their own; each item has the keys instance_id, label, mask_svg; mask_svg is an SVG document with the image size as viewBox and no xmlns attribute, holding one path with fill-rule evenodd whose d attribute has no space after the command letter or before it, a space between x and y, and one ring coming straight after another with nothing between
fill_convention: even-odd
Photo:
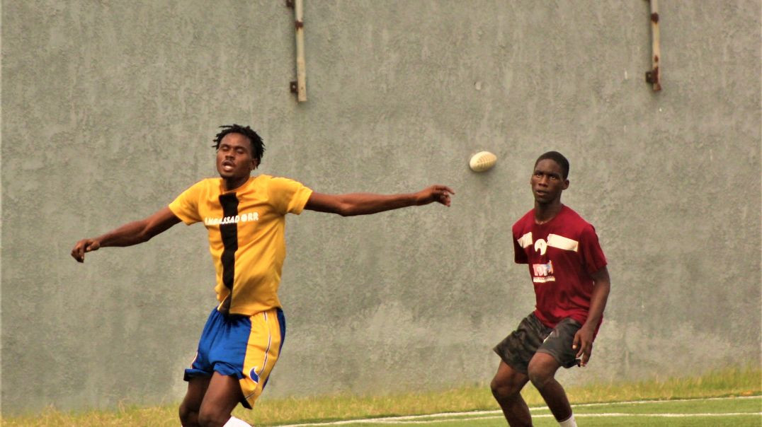
<instances>
[{"instance_id":1,"label":"outstretched bare arm of the yellow-shirted player reaching toward the ball","mask_svg":"<svg viewBox=\"0 0 762 427\"><path fill-rule=\"evenodd\" d=\"M455 192L448 186L433 185L407 194L322 194L312 193L305 209L317 212L335 213L341 216L368 215L406 206L421 206L438 202L450 206L450 194Z\"/></svg>"}]
</instances>

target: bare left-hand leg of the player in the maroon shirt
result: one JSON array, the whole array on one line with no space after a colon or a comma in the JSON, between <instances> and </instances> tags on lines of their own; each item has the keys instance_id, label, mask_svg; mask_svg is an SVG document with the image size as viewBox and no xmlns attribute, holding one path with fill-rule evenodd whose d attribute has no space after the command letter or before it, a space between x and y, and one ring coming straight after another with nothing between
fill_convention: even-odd
<instances>
[{"instance_id":1,"label":"bare left-hand leg of the player in the maroon shirt","mask_svg":"<svg viewBox=\"0 0 762 427\"><path fill-rule=\"evenodd\" d=\"M500 362L498 373L492 378L490 387L492 396L503 409L503 415L511 427L530 427L532 416L529 406L521 397L521 389L529 381L526 374L516 371L514 368Z\"/></svg>"}]
</instances>

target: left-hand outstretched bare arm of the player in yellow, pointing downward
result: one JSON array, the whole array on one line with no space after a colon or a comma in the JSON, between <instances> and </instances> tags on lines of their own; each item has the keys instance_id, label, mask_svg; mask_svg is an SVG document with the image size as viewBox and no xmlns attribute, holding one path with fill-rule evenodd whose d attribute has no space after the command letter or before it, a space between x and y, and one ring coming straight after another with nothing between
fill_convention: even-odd
<instances>
[{"instance_id":1,"label":"left-hand outstretched bare arm of the player in yellow, pointing downward","mask_svg":"<svg viewBox=\"0 0 762 427\"><path fill-rule=\"evenodd\" d=\"M102 236L78 241L72 249L72 257L78 262L84 263L87 252L98 250L99 247L132 246L143 243L149 241L156 234L167 231L168 228L178 222L180 222L180 218L174 216L174 213L165 207L148 218L129 222Z\"/></svg>"}]
</instances>

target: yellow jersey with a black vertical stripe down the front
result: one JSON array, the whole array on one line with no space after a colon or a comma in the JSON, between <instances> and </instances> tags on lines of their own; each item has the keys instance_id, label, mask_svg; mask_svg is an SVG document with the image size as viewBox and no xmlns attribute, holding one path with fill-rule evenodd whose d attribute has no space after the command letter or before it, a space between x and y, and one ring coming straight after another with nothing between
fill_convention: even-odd
<instances>
[{"instance_id":1,"label":"yellow jersey with a black vertical stripe down the front","mask_svg":"<svg viewBox=\"0 0 762 427\"><path fill-rule=\"evenodd\" d=\"M222 178L209 178L169 204L185 224L203 221L207 227L217 310L251 316L280 307L285 215L299 215L310 195L312 190L288 178L258 175L229 191Z\"/></svg>"}]
</instances>

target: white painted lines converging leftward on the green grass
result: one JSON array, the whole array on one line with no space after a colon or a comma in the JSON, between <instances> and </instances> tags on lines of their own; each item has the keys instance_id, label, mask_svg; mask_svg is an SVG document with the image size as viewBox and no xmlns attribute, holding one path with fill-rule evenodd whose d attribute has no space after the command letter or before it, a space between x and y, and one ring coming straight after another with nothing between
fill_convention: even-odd
<instances>
[{"instance_id":1,"label":"white painted lines converging leftward on the green grass","mask_svg":"<svg viewBox=\"0 0 762 427\"><path fill-rule=\"evenodd\" d=\"M572 408L589 407L589 406L604 406L613 404L641 404L641 403L670 403L670 402L690 402L692 400L730 400L730 399L759 399L760 396L741 396L741 397L706 397L697 399L674 399L674 400L630 400L626 402L601 402L601 403L580 403L578 405L571 405ZM530 411L543 410L546 406L535 406L530 408ZM425 424L431 422L447 422L447 421L472 421L478 419L499 419L502 416L489 416L492 414L499 414L501 411L470 411L460 413L433 413L427 415L408 415L408 416L384 416L379 418L362 418L362 419L346 419L342 421L327 421L327 422L307 422L304 424L288 424L280 425L279 427L308 427L312 425L346 425L346 424L390 424L405 423L405 424ZM451 417L457 416L479 416L472 418L457 418ZM679 414L679 413L657 413L657 414L632 414L632 413L601 413L601 414L578 414L575 413L575 418L581 416L662 416L662 417L685 417L685 416L738 416L738 415L762 415L762 413L705 413L705 414ZM547 418L552 416L551 414L533 415L533 418ZM447 419L426 419L422 418L447 418Z\"/></svg>"}]
</instances>

